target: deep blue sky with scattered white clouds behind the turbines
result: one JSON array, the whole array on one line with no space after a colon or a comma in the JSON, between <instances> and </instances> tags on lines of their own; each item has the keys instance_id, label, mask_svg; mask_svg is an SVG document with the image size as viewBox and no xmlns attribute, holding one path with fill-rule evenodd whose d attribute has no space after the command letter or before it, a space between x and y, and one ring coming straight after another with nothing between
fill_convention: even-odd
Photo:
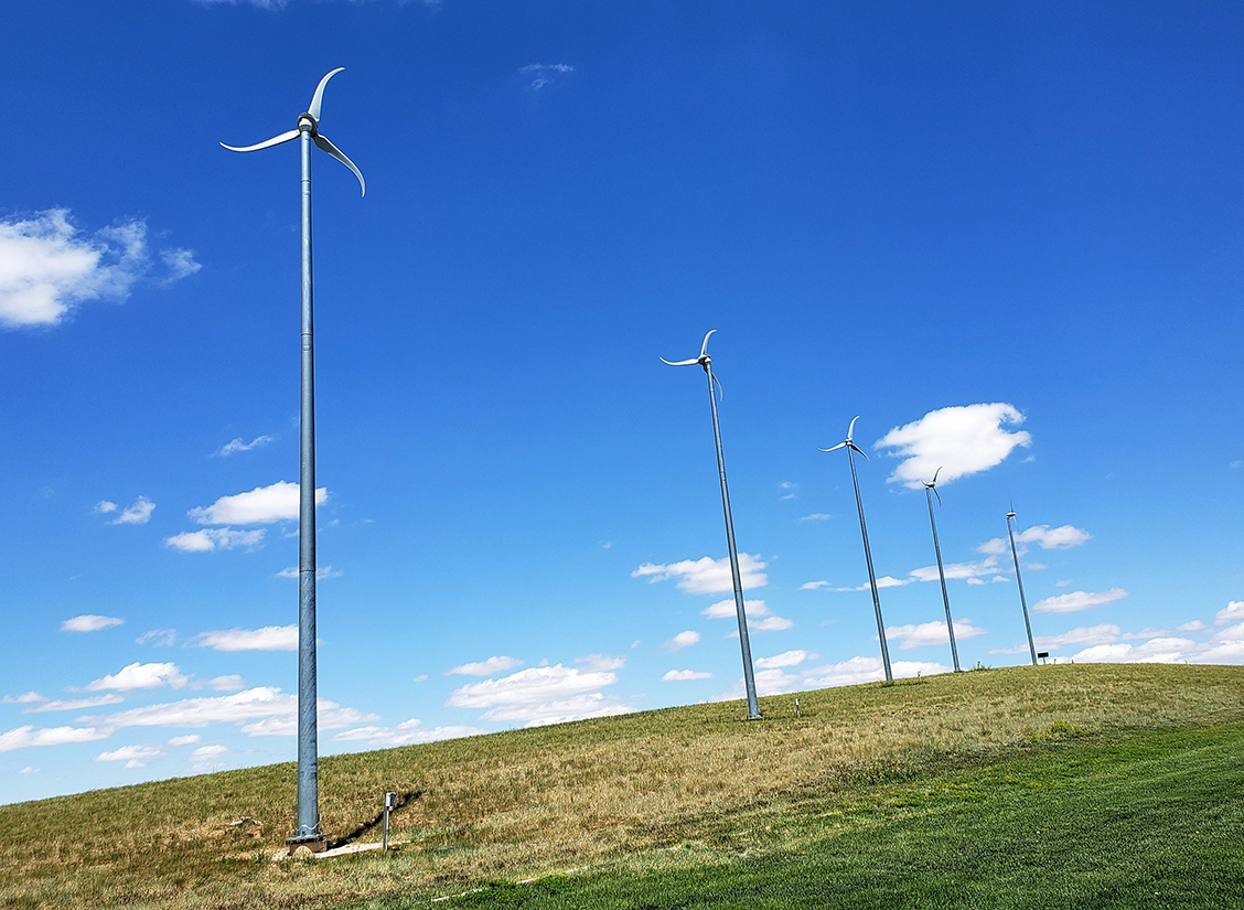
<instances>
[{"instance_id":1,"label":"deep blue sky with scattered white clouds behind the turbines","mask_svg":"<svg viewBox=\"0 0 1244 910\"><path fill-rule=\"evenodd\" d=\"M297 151L321 752L1244 660L1234 4L22 4L0 35L0 800L294 757ZM914 487L912 484L916 484ZM718 614L726 614L720 617ZM939 625L940 624L940 625Z\"/></svg>"}]
</instances>

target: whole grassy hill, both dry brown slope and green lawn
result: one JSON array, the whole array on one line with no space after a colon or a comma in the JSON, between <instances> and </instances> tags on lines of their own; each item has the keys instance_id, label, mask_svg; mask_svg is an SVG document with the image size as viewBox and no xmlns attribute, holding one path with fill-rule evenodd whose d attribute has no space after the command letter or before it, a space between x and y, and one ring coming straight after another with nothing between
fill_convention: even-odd
<instances>
[{"instance_id":1,"label":"whole grassy hill, both dry brown slope and green lawn","mask_svg":"<svg viewBox=\"0 0 1244 910\"><path fill-rule=\"evenodd\" d=\"M802 717L774 696L760 722L695 705L322 759L333 838L378 839L383 792L404 799L387 855L274 863L291 764L0 807L0 903L1244 904L1244 667L1016 667L800 698Z\"/></svg>"}]
</instances>

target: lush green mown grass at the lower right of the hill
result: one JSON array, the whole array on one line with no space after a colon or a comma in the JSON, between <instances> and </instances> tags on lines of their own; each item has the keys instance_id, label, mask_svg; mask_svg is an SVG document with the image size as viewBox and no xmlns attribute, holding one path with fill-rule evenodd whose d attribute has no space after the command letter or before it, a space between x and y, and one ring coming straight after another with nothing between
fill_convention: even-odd
<instances>
[{"instance_id":1,"label":"lush green mown grass at the lower right of the hill","mask_svg":"<svg viewBox=\"0 0 1244 910\"><path fill-rule=\"evenodd\" d=\"M847 795L847 798L843 798ZM1044 749L805 800L734 855L496 884L447 908L1228 908L1244 903L1244 727ZM770 847L771 842L800 840ZM726 839L728 840L728 839ZM724 848L724 850L723 850ZM729 854L722 844L718 853ZM425 906L425 896L374 910Z\"/></svg>"}]
</instances>

